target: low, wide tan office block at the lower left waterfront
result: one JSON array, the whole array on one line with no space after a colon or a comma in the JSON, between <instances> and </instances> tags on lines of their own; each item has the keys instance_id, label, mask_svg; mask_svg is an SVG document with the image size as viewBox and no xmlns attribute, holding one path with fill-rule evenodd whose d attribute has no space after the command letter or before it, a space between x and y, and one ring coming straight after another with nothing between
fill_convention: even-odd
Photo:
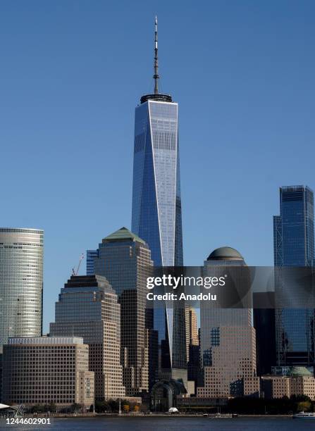
<instances>
[{"instance_id":1,"label":"low, wide tan office block at the lower left waterfront","mask_svg":"<svg viewBox=\"0 0 315 431\"><path fill-rule=\"evenodd\" d=\"M4 345L2 399L8 404L94 403L89 346L80 337L10 338Z\"/></svg>"}]
</instances>

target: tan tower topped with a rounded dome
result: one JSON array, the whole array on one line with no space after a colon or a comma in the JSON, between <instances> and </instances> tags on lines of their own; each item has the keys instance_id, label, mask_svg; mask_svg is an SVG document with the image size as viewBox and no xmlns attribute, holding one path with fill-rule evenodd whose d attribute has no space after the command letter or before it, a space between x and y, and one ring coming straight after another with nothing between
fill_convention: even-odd
<instances>
[{"instance_id":1,"label":"tan tower topped with a rounded dome","mask_svg":"<svg viewBox=\"0 0 315 431\"><path fill-rule=\"evenodd\" d=\"M244 259L230 247L216 249L209 255L204 276L224 275L229 267L239 277L236 282L250 282ZM204 386L197 388L197 396L258 396L252 309L213 308L209 301L201 301L200 320Z\"/></svg>"}]
</instances>

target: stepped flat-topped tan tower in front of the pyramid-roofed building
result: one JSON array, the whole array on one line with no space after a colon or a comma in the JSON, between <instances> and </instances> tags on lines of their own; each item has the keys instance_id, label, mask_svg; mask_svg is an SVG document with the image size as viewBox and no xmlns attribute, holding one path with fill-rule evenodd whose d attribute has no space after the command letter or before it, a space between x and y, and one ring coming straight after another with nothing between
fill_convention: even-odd
<instances>
[{"instance_id":1,"label":"stepped flat-topped tan tower in front of the pyramid-roofed building","mask_svg":"<svg viewBox=\"0 0 315 431\"><path fill-rule=\"evenodd\" d=\"M121 366L121 306L106 278L71 276L56 302L52 337L82 337L89 345L89 370L95 375L95 399L125 396Z\"/></svg>"}]
</instances>

